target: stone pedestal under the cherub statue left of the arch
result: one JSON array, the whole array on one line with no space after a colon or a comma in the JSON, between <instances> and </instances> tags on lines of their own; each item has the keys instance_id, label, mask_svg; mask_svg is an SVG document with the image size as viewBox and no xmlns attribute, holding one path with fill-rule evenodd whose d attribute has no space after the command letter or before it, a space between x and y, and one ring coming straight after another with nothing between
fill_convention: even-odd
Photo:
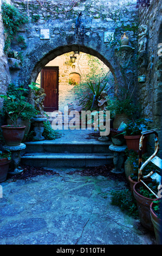
<instances>
[{"instance_id":1,"label":"stone pedestal under the cherub statue left of the arch","mask_svg":"<svg viewBox=\"0 0 162 256\"><path fill-rule=\"evenodd\" d=\"M33 137L35 141L43 141L44 137L42 136L42 133L44 131L44 121L47 121L47 118L45 117L38 117L38 118L32 118L34 121L34 132L35 136Z\"/></svg>"}]
</instances>

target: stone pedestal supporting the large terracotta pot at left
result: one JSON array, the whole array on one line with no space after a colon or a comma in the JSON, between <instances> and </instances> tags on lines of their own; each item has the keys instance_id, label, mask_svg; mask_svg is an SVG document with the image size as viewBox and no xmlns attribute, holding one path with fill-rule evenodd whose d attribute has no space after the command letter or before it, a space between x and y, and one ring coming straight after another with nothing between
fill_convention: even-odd
<instances>
[{"instance_id":1,"label":"stone pedestal supporting the large terracotta pot at left","mask_svg":"<svg viewBox=\"0 0 162 256\"><path fill-rule=\"evenodd\" d=\"M20 174L23 172L23 169L19 167L20 161L21 161L21 151L26 148L26 145L21 143L18 146L7 146L4 145L4 150L10 150L11 152L11 162L9 166L9 174Z\"/></svg>"}]
</instances>

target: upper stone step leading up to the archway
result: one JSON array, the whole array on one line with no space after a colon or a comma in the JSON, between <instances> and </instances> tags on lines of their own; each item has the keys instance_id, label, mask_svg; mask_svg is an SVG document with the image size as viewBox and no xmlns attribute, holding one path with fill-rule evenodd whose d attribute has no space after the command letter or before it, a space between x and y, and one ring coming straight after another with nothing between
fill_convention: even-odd
<instances>
[{"instance_id":1,"label":"upper stone step leading up to the archway","mask_svg":"<svg viewBox=\"0 0 162 256\"><path fill-rule=\"evenodd\" d=\"M26 153L66 153L66 154L86 154L102 153L112 154L109 150L111 142L87 141L87 142L58 142L56 141L36 141L25 142Z\"/></svg>"}]
</instances>

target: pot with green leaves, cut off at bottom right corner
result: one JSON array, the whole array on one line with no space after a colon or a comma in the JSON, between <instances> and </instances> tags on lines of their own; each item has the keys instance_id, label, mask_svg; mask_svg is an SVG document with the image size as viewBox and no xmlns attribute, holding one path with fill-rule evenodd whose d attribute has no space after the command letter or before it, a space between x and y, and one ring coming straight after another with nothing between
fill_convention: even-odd
<instances>
[{"instance_id":1,"label":"pot with green leaves, cut off at bottom right corner","mask_svg":"<svg viewBox=\"0 0 162 256\"><path fill-rule=\"evenodd\" d=\"M161 209L160 208L161 208L161 198L157 198L150 205L151 221L153 223L157 245L161 245Z\"/></svg>"}]
</instances>

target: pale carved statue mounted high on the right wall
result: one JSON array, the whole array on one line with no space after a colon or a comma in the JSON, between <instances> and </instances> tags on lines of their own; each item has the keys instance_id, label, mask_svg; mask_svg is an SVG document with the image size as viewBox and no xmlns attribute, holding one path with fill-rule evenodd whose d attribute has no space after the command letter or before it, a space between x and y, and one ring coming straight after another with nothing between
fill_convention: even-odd
<instances>
[{"instance_id":1,"label":"pale carved statue mounted high on the right wall","mask_svg":"<svg viewBox=\"0 0 162 256\"><path fill-rule=\"evenodd\" d=\"M146 51L146 46L147 46L147 26L146 25L141 25L139 27L138 36L139 36L139 40L138 40L139 52Z\"/></svg>"}]
</instances>

